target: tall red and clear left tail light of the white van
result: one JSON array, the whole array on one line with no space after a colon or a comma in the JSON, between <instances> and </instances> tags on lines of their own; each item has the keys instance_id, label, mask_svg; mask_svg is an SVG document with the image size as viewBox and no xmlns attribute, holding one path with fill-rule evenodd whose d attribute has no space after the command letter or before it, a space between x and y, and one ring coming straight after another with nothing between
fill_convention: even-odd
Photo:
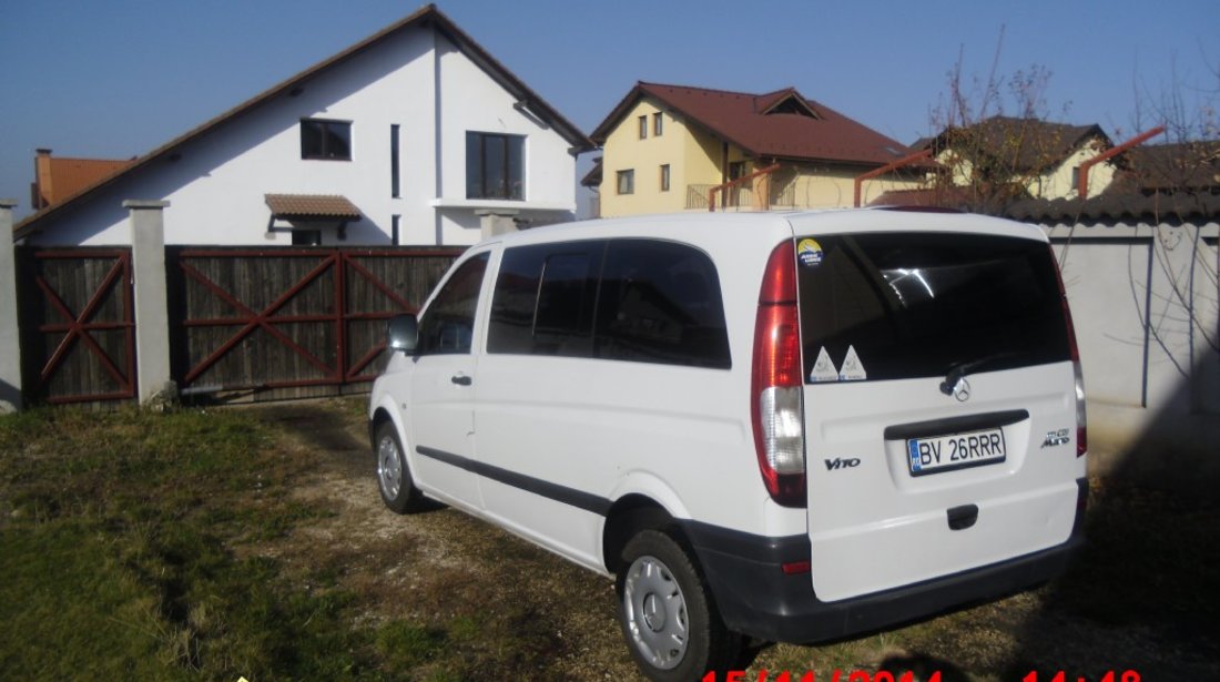
<instances>
[{"instance_id":1,"label":"tall red and clear left tail light of the white van","mask_svg":"<svg viewBox=\"0 0 1220 682\"><path fill-rule=\"evenodd\" d=\"M771 251L754 323L750 415L754 450L767 493L783 506L805 506L805 411L800 315L792 240Z\"/></svg>"}]
</instances>

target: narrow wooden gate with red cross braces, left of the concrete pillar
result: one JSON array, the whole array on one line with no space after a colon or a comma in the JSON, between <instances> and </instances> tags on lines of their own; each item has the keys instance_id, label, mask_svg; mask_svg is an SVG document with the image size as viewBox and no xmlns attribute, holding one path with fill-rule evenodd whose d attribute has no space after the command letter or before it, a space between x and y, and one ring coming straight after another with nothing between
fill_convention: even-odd
<instances>
[{"instance_id":1,"label":"narrow wooden gate with red cross braces, left of the concrete pillar","mask_svg":"<svg viewBox=\"0 0 1220 682\"><path fill-rule=\"evenodd\" d=\"M131 249L22 248L17 254L27 399L135 398Z\"/></svg>"}]
</instances>

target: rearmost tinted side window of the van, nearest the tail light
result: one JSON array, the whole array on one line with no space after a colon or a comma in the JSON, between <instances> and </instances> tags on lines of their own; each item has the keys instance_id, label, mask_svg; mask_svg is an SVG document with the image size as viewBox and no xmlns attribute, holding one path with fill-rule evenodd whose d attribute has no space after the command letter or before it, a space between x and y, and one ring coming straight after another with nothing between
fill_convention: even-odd
<instances>
[{"instance_id":1,"label":"rearmost tinted side window of the van, nearest the tail light","mask_svg":"<svg viewBox=\"0 0 1220 682\"><path fill-rule=\"evenodd\" d=\"M683 244L614 239L598 299L595 356L728 368L720 278Z\"/></svg>"}]
</instances>

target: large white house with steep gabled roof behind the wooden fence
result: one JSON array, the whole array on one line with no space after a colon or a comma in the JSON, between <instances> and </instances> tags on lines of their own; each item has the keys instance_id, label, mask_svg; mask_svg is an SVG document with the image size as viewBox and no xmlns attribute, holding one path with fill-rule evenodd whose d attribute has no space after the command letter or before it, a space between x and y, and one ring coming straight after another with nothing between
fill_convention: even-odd
<instances>
[{"instance_id":1,"label":"large white house with steep gabled roof behind the wooden fence","mask_svg":"<svg viewBox=\"0 0 1220 682\"><path fill-rule=\"evenodd\" d=\"M122 203L135 199L170 203L167 244L471 244L481 226L571 220L589 149L429 5L29 216L16 237L126 244Z\"/></svg>"}]
</instances>

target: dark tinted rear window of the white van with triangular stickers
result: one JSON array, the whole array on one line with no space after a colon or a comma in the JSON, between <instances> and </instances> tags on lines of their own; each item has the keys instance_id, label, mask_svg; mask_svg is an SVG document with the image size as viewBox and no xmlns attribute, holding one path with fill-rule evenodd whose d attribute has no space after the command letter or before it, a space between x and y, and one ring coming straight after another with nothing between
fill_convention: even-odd
<instances>
[{"instance_id":1,"label":"dark tinted rear window of the white van with triangular stickers","mask_svg":"<svg viewBox=\"0 0 1220 682\"><path fill-rule=\"evenodd\" d=\"M1070 359L1055 265L1042 242L867 233L798 238L797 251L806 382Z\"/></svg>"}]
</instances>

